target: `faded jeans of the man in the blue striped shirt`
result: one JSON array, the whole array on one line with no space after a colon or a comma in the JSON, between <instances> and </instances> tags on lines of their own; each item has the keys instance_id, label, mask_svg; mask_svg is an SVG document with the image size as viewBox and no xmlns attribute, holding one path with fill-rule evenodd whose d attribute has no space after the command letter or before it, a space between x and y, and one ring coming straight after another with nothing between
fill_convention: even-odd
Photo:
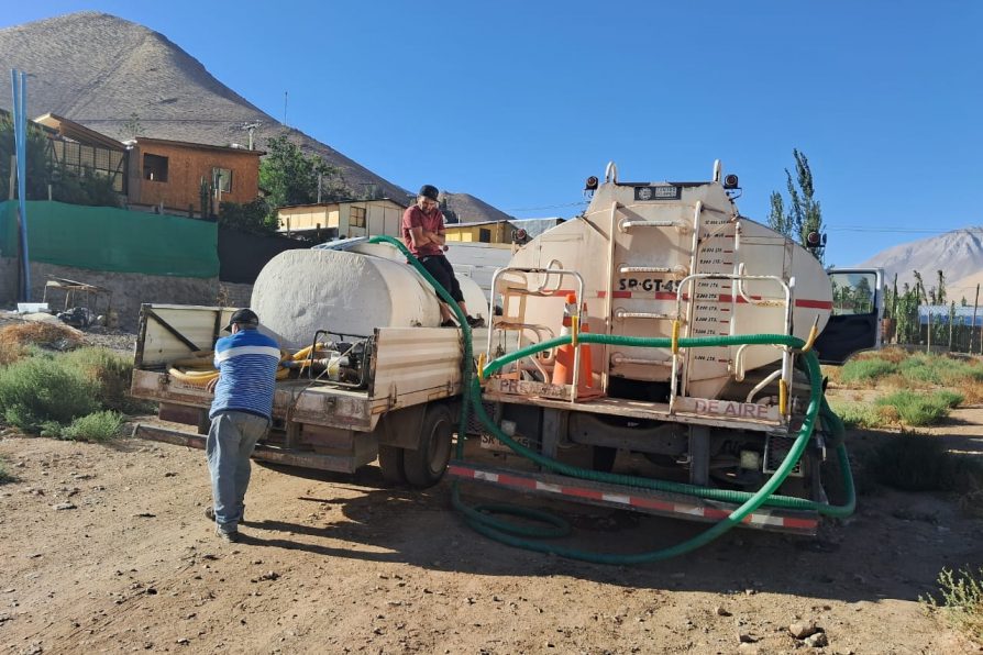
<instances>
[{"instance_id":1,"label":"faded jeans of the man in the blue striped shirt","mask_svg":"<svg viewBox=\"0 0 983 655\"><path fill-rule=\"evenodd\" d=\"M221 412L211 421L205 455L211 474L216 524L222 532L239 530L250 486L250 455L267 428L268 420L246 412Z\"/></svg>"}]
</instances>

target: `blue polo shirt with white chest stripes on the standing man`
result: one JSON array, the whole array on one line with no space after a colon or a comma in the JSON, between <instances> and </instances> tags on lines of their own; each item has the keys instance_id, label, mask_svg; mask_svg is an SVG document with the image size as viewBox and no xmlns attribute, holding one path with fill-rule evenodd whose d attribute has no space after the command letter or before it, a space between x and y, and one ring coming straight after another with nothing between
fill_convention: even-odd
<instances>
[{"instance_id":1,"label":"blue polo shirt with white chest stripes on the standing man","mask_svg":"<svg viewBox=\"0 0 983 655\"><path fill-rule=\"evenodd\" d=\"M239 411L269 419L279 360L277 343L258 330L240 330L216 342L216 368L221 376L209 418Z\"/></svg>"}]
</instances>

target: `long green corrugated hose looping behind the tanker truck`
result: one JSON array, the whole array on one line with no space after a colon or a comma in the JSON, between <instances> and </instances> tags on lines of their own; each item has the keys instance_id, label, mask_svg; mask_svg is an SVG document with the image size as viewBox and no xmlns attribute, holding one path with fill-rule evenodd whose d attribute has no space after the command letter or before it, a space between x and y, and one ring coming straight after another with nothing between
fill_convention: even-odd
<instances>
[{"instance_id":1,"label":"long green corrugated hose looping behind the tanker truck","mask_svg":"<svg viewBox=\"0 0 983 655\"><path fill-rule=\"evenodd\" d=\"M539 453L530 451L529 448L522 446L515 440L510 438L504 432L501 432L497 425L495 425L494 421L492 421L484 410L484 406L482 404L482 389L479 380L472 379L472 364L473 364L473 354L472 354L472 334L471 328L467 325L466 318L461 309L457 307L457 303L450 297L446 290L433 279L433 277L427 271L426 268L412 256L412 254L406 248L406 246L390 237L390 236L376 236L369 240L371 243L389 243L397 248L399 248L404 255L406 255L407 260L413 268L420 273L427 281L433 286L434 290L441 297L441 299L446 302L448 307L450 307L456 314L459 322L461 323L461 329L463 331L464 337L464 360L462 366L462 389L464 390L465 401L462 402L461 407L461 418L460 418L460 428L459 428L459 438L456 445L456 457L459 459L463 458L464 454L464 441L467 432L467 411L468 404L475 411L475 415L479 421L485 425L485 428L501 443L509 446L515 452L520 455L528 457L529 459L535 462L537 464L548 468L550 470L554 470L561 473L563 475L568 475L573 477L578 477L582 479L590 479L596 481L605 481L612 482L617 485L627 485L633 487L641 487L647 489L655 489L661 491L672 491L676 493L684 493L688 496L695 496L711 500L721 500L726 502L741 502L742 504L733 510L727 518L715 524L709 530L700 533L699 535L687 540L681 544L676 544L675 546L671 546L667 548L662 548L654 552L649 553L640 553L632 555L612 555L612 554L603 554L603 553L589 553L584 551L577 551L572 548L566 548L562 546L557 546L555 544L549 544L540 541L529 541L521 539L521 536L531 536L535 535L539 537L546 536L559 536L561 534L565 534L567 531L567 526L565 523L560 520L546 514L544 512L538 512L535 510L528 509L517 509L511 506L478 506L478 507L468 507L466 506L460 497L460 488L459 481L455 480L452 487L452 502L455 508L464 513L465 520L472 528L474 528L477 532L502 543L518 546L522 548L528 548L532 551L538 551L542 553L553 553L556 555L561 555L564 557L573 558L573 559L582 559L586 562L594 562L599 564L639 564L644 562L655 562L661 559L667 559L670 557L675 557L677 555L682 555L688 553L695 548L698 548L713 540L717 539L721 534L731 530L736 525L739 525L743 519L756 510L762 504L769 504L771 507L783 507L789 509L798 509L798 510L813 510L820 512L826 515L832 517L847 517L853 512L855 507L855 490L853 487L853 479L850 471L849 458L847 456L846 447L840 443L837 446L837 454L840 460L840 471L843 476L846 491L848 496L848 502L843 506L830 506L825 503L816 503L814 501L800 499L800 498L792 498L792 497L775 497L774 491L784 482L785 478L792 471L793 467L798 463L803 453L805 452L808 440L813 433L813 430L816 424L816 420L819 414L822 415L824 428L827 431L831 431L835 438L840 438L843 431L842 422L839 421L839 418L832 412L829 406L826 403L826 399L821 393L821 385L819 378L819 362L816 358L815 354L811 352L805 353L805 364L806 370L809 376L810 381L810 395L809 395L809 404L806 409L805 420L803 421L803 425L799 429L798 436L796 437L792 448L788 452L788 455L778 466L775 474L754 493L749 493L744 491L729 491L722 489L707 489L704 487L698 487L694 485L684 485L677 482L669 482L664 480L653 480L649 478L639 478L634 476L622 476L615 474L605 474L599 471L594 471L589 469L582 469L577 467L573 467L549 457L544 457ZM603 334L593 334L593 333L582 333L578 335L579 341L583 343L599 343L599 344L617 344L625 346L644 346L644 347L670 347L672 345L671 340L669 338L647 338L647 337L632 337L632 336L615 336L615 335L603 335ZM560 345L565 345L567 343L572 343L571 335L563 335L552 340L548 340L545 342L541 342L539 344L534 344L532 346L528 346L509 355L499 357L495 359L485 367L483 375L492 374L496 370L500 369L506 364L520 359L522 357L529 356L540 351L550 349ZM678 340L680 347L702 347L702 346L721 346L721 345L740 345L740 344L778 344L785 345L794 348L802 348L805 345L800 338L784 334L759 334L759 335L745 335L745 336L717 336L717 337L700 337L700 338L681 338ZM504 521L499 521L494 517L489 515L489 512L497 513L510 513L515 515L520 515L524 518L530 518L533 520L538 520L541 522L546 522L552 525L551 530L535 530L531 528L518 526L511 523L507 523Z\"/></svg>"}]
</instances>

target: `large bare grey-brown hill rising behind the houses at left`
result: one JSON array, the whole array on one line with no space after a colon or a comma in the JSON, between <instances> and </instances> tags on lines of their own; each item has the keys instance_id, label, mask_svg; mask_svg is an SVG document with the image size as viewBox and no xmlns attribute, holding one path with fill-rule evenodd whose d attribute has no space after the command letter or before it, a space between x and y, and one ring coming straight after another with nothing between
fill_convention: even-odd
<instances>
[{"instance_id":1,"label":"large bare grey-brown hill rising behind the houses at left","mask_svg":"<svg viewBox=\"0 0 983 655\"><path fill-rule=\"evenodd\" d=\"M106 13L85 11L0 30L0 62L4 70L30 74L27 115L52 112L107 136L123 136L133 114L142 136L211 145L246 144L245 125L258 123L254 143L262 149L283 131L279 121L163 34ZM10 85L0 84L0 107L12 104ZM407 200L409 191L342 153L299 130L290 135L305 152L339 167L355 191L374 188ZM497 212L482 204L487 210L474 220Z\"/></svg>"}]
</instances>

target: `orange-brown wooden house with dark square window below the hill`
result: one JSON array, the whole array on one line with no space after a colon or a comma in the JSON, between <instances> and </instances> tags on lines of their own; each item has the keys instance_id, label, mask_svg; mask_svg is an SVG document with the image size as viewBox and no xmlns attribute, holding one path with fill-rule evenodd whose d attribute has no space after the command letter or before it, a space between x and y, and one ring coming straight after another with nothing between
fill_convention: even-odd
<instances>
[{"instance_id":1,"label":"orange-brown wooden house with dark square window below the hill","mask_svg":"<svg viewBox=\"0 0 983 655\"><path fill-rule=\"evenodd\" d=\"M130 204L201 215L202 181L219 202L252 202L259 195L262 151L137 136L130 151Z\"/></svg>"}]
</instances>

